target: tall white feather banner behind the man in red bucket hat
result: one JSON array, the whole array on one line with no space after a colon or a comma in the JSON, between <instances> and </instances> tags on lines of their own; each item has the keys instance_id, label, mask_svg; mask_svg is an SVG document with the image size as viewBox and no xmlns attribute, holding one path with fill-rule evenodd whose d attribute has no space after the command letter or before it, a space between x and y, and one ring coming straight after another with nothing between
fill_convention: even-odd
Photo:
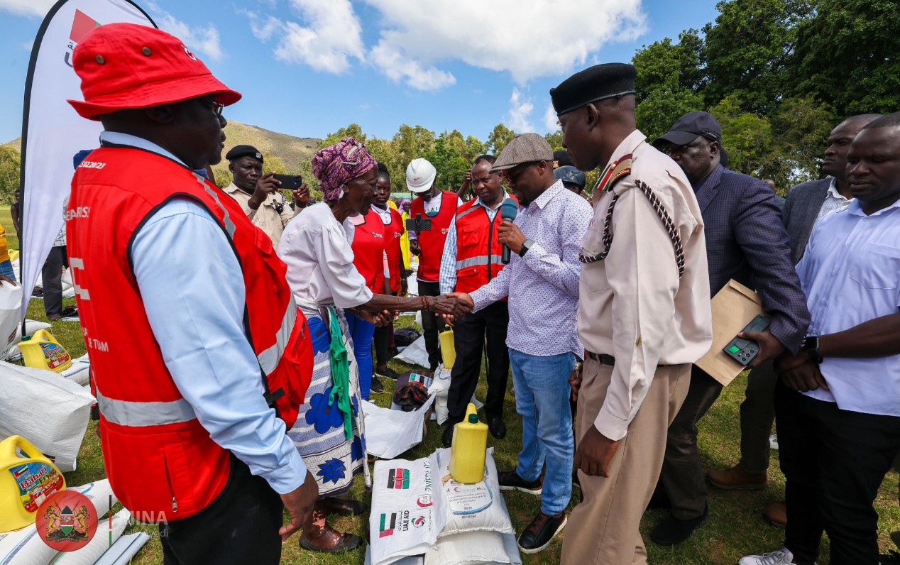
<instances>
[{"instance_id":1,"label":"tall white feather banner behind the man in red bucket hat","mask_svg":"<svg viewBox=\"0 0 900 565\"><path fill-rule=\"evenodd\" d=\"M128 0L60 0L40 24L31 49L22 121L22 317L50 247L64 225L65 202L75 173L72 158L100 146L99 121L80 117L68 99L84 100L72 68L72 51L104 23L156 27Z\"/></svg>"}]
</instances>

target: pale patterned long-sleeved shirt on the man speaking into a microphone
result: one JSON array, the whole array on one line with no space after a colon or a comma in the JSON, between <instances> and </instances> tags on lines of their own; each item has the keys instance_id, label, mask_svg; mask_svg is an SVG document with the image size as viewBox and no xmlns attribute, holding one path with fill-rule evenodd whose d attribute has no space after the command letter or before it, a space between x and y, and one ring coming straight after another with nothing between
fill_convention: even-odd
<instances>
[{"instance_id":1,"label":"pale patterned long-sleeved shirt on the man speaking into a microphone","mask_svg":"<svg viewBox=\"0 0 900 565\"><path fill-rule=\"evenodd\" d=\"M471 296L479 310L509 296L507 345L522 353L584 356L578 314L581 238L594 211L588 201L556 183L519 208L516 224L534 245Z\"/></svg>"}]
</instances>

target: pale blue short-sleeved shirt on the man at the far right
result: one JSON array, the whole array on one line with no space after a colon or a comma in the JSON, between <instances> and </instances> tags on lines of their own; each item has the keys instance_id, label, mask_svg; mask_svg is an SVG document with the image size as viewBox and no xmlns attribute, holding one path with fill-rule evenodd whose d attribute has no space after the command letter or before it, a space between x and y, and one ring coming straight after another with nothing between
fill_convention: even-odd
<instances>
[{"instance_id":1,"label":"pale blue short-sleeved shirt on the man at the far right","mask_svg":"<svg viewBox=\"0 0 900 565\"><path fill-rule=\"evenodd\" d=\"M900 202L867 216L859 201L815 224L797 264L812 315L810 336L856 327L900 310ZM900 416L900 355L825 357L820 367L831 392L815 399L853 412Z\"/></svg>"}]
</instances>

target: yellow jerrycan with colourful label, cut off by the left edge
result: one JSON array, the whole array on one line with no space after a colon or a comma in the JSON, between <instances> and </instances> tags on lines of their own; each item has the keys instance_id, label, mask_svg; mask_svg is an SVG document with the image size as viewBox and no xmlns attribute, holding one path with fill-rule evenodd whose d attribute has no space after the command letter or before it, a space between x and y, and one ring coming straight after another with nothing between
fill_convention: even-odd
<instances>
[{"instance_id":1,"label":"yellow jerrycan with colourful label, cut off by the left edge","mask_svg":"<svg viewBox=\"0 0 900 565\"><path fill-rule=\"evenodd\" d=\"M66 479L40 450L21 435L0 442L0 533L34 524L38 507Z\"/></svg>"}]
</instances>

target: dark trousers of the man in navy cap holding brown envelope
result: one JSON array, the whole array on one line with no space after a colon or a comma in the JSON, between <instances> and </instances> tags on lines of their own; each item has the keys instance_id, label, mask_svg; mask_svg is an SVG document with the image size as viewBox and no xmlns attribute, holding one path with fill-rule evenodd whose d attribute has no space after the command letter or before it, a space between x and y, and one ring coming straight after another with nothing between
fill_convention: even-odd
<instances>
[{"instance_id":1,"label":"dark trousers of the man in navy cap holding brown envelope","mask_svg":"<svg viewBox=\"0 0 900 565\"><path fill-rule=\"evenodd\" d=\"M666 455L657 490L662 489L671 502L672 516L689 520L703 516L707 507L707 481L700 466L697 449L697 423L719 394L722 385L693 365L690 369L688 397L669 426Z\"/></svg>"}]
</instances>

